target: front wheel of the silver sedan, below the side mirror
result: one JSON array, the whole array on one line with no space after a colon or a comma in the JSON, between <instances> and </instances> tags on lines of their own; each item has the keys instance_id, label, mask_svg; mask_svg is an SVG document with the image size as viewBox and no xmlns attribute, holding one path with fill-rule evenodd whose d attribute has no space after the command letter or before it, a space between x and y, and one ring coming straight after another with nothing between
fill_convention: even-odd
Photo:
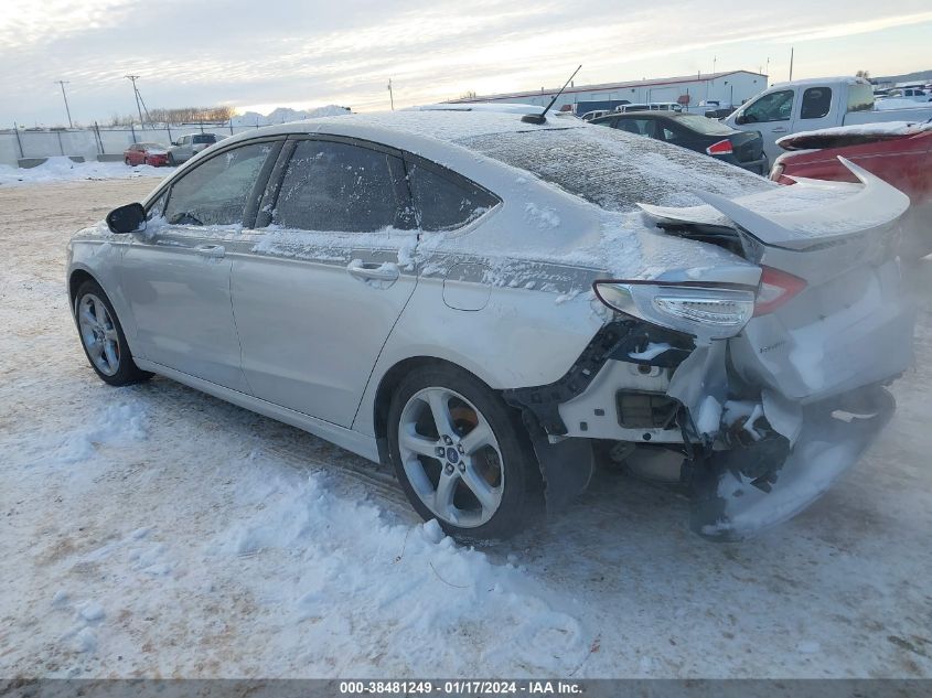
<instances>
[{"instance_id":1,"label":"front wheel of the silver sedan, below the side mirror","mask_svg":"<svg viewBox=\"0 0 932 698\"><path fill-rule=\"evenodd\" d=\"M152 377L132 361L117 313L99 283L89 279L82 283L73 310L84 354L103 382L121 386Z\"/></svg>"}]
</instances>

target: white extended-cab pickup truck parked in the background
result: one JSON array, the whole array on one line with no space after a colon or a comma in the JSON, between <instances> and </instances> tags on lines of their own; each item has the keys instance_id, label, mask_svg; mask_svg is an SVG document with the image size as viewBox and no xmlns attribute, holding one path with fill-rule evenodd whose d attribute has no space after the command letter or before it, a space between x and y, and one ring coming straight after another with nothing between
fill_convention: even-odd
<instances>
[{"instance_id":1,"label":"white extended-cab pickup truck parked in the background","mask_svg":"<svg viewBox=\"0 0 932 698\"><path fill-rule=\"evenodd\" d=\"M779 138L833 126L878 121L925 121L932 105L875 109L874 86L860 77L824 77L778 83L722 119L739 131L758 131L771 162L781 153Z\"/></svg>"}]
</instances>

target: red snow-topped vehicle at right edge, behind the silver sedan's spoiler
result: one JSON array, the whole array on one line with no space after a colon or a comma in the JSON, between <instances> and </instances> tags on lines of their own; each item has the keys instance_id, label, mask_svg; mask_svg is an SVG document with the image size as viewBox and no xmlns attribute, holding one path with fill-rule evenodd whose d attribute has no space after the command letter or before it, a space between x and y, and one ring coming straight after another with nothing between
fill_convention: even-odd
<instances>
[{"instance_id":1,"label":"red snow-topped vehicle at right edge, behind the silver sedan's spoiler","mask_svg":"<svg viewBox=\"0 0 932 698\"><path fill-rule=\"evenodd\" d=\"M932 253L932 122L843 126L793 133L778 144L790 151L770 171L781 184L793 184L789 175L857 182L838 160L842 155L896 186L912 202L904 256Z\"/></svg>"}]
</instances>

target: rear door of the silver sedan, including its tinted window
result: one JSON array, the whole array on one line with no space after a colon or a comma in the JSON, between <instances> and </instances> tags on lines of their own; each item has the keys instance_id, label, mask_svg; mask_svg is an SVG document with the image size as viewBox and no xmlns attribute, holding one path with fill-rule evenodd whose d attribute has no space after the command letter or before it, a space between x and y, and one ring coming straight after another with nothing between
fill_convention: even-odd
<instances>
[{"instance_id":1,"label":"rear door of the silver sedan, including its tinted window","mask_svg":"<svg viewBox=\"0 0 932 698\"><path fill-rule=\"evenodd\" d=\"M401 160L349 139L289 141L254 247L233 261L253 394L350 427L417 283Z\"/></svg>"}]
</instances>

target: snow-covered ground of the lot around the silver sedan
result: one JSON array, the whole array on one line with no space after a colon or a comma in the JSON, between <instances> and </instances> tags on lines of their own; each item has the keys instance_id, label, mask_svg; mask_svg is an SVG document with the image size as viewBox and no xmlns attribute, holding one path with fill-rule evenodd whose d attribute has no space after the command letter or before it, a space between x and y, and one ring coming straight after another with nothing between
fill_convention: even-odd
<instances>
[{"instance_id":1,"label":"snow-covered ground of the lot around the silver sedan","mask_svg":"<svg viewBox=\"0 0 932 698\"><path fill-rule=\"evenodd\" d=\"M888 430L779 530L602 472L475 551L319 439L95 377L65 240L156 182L0 187L0 676L932 676L932 301Z\"/></svg>"}]
</instances>

